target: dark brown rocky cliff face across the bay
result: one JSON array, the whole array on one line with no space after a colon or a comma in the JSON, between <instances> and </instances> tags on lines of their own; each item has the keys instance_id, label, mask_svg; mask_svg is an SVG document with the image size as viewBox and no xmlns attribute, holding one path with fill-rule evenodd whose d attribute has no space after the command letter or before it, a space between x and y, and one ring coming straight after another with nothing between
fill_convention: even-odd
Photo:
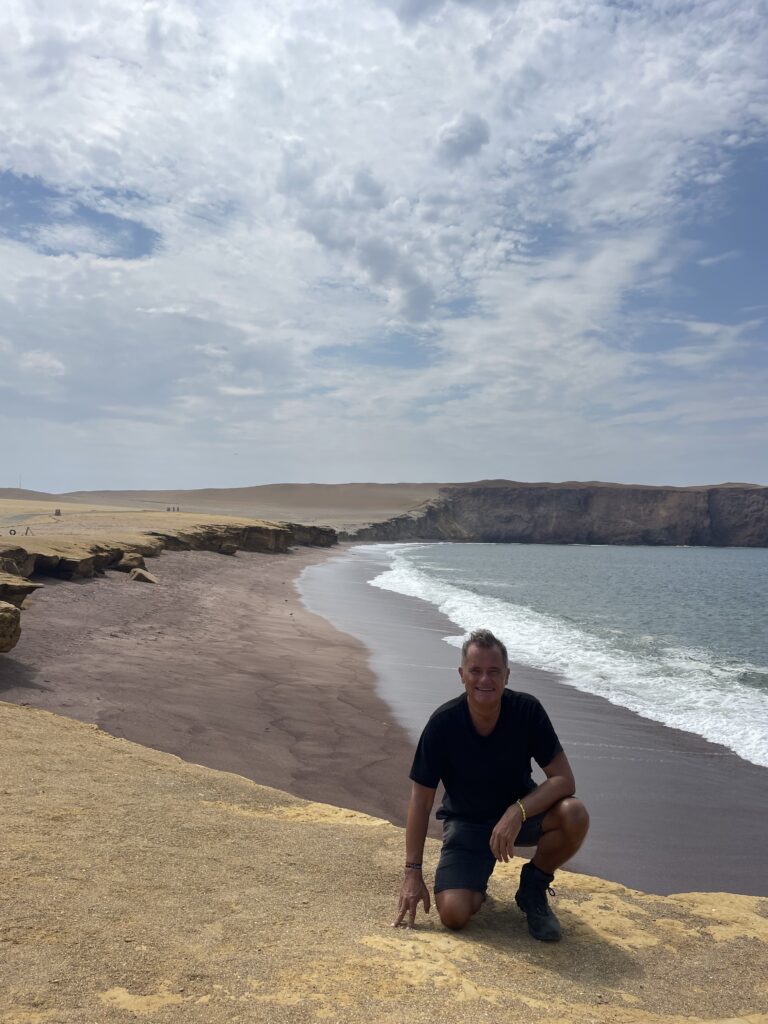
<instances>
[{"instance_id":1,"label":"dark brown rocky cliff face across the bay","mask_svg":"<svg viewBox=\"0 0 768 1024\"><path fill-rule=\"evenodd\" d=\"M457 484L353 539L768 547L768 487Z\"/></svg>"}]
</instances>

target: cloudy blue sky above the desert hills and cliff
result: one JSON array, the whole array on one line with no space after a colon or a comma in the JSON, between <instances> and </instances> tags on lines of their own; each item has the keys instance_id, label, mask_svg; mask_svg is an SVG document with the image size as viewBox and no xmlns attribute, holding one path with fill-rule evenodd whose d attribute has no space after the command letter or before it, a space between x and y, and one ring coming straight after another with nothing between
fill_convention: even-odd
<instances>
[{"instance_id":1,"label":"cloudy blue sky above the desert hills and cliff","mask_svg":"<svg viewBox=\"0 0 768 1024\"><path fill-rule=\"evenodd\" d=\"M768 483L768 0L6 0L0 487Z\"/></svg>"}]
</instances>

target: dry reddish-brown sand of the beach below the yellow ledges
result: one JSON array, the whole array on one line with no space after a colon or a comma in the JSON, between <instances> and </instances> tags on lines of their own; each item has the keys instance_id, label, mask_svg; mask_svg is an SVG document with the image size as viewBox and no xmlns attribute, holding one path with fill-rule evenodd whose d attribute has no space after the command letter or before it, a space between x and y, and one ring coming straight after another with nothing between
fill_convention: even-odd
<instances>
[{"instance_id":1,"label":"dry reddish-brown sand of the beach below the yellow ledges","mask_svg":"<svg viewBox=\"0 0 768 1024\"><path fill-rule=\"evenodd\" d=\"M185 761L401 820L411 743L368 652L293 586L327 557L165 552L157 587L46 580L0 662L0 698Z\"/></svg>"}]
</instances>

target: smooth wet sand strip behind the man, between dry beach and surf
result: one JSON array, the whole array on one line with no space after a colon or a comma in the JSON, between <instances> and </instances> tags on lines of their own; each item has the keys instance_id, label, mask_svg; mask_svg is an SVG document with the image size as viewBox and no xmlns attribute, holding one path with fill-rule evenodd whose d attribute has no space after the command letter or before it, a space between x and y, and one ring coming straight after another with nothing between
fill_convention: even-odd
<instances>
[{"instance_id":1,"label":"smooth wet sand strip behind the man, between dry beach and surf","mask_svg":"<svg viewBox=\"0 0 768 1024\"><path fill-rule=\"evenodd\" d=\"M431 712L461 692L459 652L442 638L463 630L428 602L369 586L379 571L372 554L348 550L306 569L300 589L313 611L370 648L377 692L415 742ZM552 673L511 670L510 685L550 714L590 810L590 835L566 869L665 895L768 895L768 823L758 810L768 769Z\"/></svg>"}]
</instances>

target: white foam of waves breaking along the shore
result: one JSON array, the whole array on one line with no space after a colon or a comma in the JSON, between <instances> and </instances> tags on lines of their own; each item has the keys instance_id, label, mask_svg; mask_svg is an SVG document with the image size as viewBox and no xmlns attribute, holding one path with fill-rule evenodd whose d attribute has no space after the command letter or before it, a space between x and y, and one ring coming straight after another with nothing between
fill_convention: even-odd
<instances>
[{"instance_id":1,"label":"white foam of waves breaking along the shore","mask_svg":"<svg viewBox=\"0 0 768 1024\"><path fill-rule=\"evenodd\" d=\"M553 615L431 577L408 559L408 547L377 546L391 565L370 581L372 586L428 601L467 632L490 629L514 662L556 672L578 689L768 767L768 695L738 682L742 673L765 670L743 662L718 663L708 651L664 646L654 637L636 638L637 649L623 648L610 635L591 634ZM461 646L463 637L445 640Z\"/></svg>"}]
</instances>

